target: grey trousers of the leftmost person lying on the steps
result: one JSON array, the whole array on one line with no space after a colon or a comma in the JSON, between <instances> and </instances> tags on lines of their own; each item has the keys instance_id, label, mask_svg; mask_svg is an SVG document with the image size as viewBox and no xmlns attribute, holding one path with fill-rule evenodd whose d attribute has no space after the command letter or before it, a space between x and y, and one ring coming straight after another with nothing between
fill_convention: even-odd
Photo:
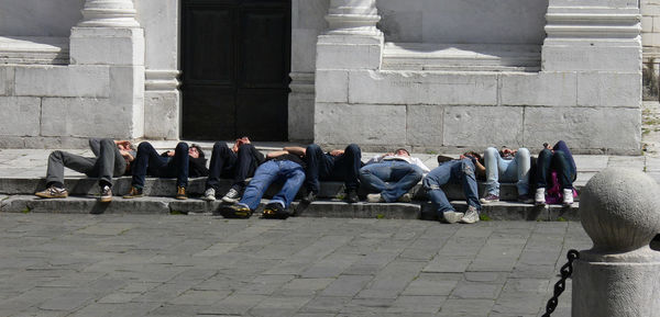
<instances>
[{"instance_id":1,"label":"grey trousers of the leftmost person lying on the steps","mask_svg":"<svg viewBox=\"0 0 660 317\"><path fill-rule=\"evenodd\" d=\"M112 184L112 176L123 176L127 161L119 152L112 139L89 139L89 146L97 157L84 157L66 151L56 150L48 157L48 171L46 183L64 183L64 168L85 173L90 178L98 178L102 182Z\"/></svg>"}]
</instances>

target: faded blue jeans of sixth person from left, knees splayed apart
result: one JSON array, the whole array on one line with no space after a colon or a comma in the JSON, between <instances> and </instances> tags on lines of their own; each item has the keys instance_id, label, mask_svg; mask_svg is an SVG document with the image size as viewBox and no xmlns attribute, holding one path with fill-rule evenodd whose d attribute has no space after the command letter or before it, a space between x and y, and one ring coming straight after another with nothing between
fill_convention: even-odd
<instances>
[{"instance_id":1,"label":"faded blue jeans of sixth person from left, knees splayed apart","mask_svg":"<svg viewBox=\"0 0 660 317\"><path fill-rule=\"evenodd\" d=\"M406 161L389 160L360 169L360 181L370 191L380 192L387 203L396 202L421 180L424 171Z\"/></svg>"}]
</instances>

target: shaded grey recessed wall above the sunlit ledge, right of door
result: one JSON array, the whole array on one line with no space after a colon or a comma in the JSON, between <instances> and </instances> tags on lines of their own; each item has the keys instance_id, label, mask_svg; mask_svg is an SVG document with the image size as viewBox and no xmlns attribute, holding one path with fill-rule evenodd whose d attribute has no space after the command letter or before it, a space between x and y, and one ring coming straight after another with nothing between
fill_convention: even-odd
<instances>
[{"instance_id":1,"label":"shaded grey recessed wall above the sunlit ledge, right of door","mask_svg":"<svg viewBox=\"0 0 660 317\"><path fill-rule=\"evenodd\" d=\"M548 0L378 0L385 42L541 44Z\"/></svg>"}]
</instances>

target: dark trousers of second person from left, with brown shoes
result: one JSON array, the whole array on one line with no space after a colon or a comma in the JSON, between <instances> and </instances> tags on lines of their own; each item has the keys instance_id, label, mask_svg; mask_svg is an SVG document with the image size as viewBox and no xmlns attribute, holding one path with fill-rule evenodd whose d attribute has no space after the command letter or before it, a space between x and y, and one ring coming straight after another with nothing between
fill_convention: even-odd
<instances>
[{"instance_id":1,"label":"dark trousers of second person from left, with brown shoes","mask_svg":"<svg viewBox=\"0 0 660 317\"><path fill-rule=\"evenodd\" d=\"M174 157L162 157L148 141L138 146L133 163L133 186L144 188L144 178L148 173L157 178L176 178L176 185L188 185L188 144L179 143Z\"/></svg>"}]
</instances>

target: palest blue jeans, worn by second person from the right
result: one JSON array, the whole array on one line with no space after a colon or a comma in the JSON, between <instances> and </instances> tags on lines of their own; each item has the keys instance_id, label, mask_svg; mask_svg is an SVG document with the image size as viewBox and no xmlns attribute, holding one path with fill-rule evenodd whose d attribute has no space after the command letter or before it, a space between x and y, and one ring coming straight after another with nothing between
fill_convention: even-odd
<instances>
[{"instance_id":1,"label":"palest blue jeans, worn by second person from the right","mask_svg":"<svg viewBox=\"0 0 660 317\"><path fill-rule=\"evenodd\" d=\"M490 147L484 152L486 167L486 193L498 196L499 182L516 182L518 195L529 194L529 168L531 166L529 150L521 147L514 159L507 160L499 156L499 151Z\"/></svg>"}]
</instances>

